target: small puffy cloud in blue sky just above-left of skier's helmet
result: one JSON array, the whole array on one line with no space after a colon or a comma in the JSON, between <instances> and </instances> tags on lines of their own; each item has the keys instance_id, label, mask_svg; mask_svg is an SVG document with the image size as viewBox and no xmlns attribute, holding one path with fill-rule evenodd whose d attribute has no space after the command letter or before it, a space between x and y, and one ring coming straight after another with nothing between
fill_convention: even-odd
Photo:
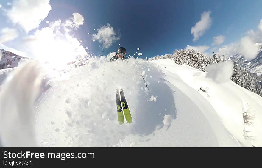
<instances>
[{"instance_id":1,"label":"small puffy cloud in blue sky just above-left of skier's helmet","mask_svg":"<svg viewBox=\"0 0 262 168\"><path fill-rule=\"evenodd\" d=\"M93 40L102 43L104 48L109 48L112 43L120 39L120 37L116 35L114 28L108 23L97 31L97 34L92 35Z\"/></svg>"}]
</instances>

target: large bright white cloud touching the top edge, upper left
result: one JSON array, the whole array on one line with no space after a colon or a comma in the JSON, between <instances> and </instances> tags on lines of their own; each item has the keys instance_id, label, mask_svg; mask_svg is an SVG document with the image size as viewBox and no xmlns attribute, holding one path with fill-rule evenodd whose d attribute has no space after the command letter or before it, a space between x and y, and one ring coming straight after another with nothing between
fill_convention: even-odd
<instances>
[{"instance_id":1,"label":"large bright white cloud touching the top edge, upper left","mask_svg":"<svg viewBox=\"0 0 262 168\"><path fill-rule=\"evenodd\" d=\"M5 11L13 23L29 32L39 27L50 10L49 0L14 0L12 8Z\"/></svg>"}]
</instances>

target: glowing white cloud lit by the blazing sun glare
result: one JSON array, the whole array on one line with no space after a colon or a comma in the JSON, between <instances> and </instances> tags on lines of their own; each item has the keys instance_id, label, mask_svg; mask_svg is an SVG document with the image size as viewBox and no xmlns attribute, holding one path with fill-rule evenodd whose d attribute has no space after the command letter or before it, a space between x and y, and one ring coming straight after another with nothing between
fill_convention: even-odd
<instances>
[{"instance_id":1,"label":"glowing white cloud lit by the blazing sun glare","mask_svg":"<svg viewBox=\"0 0 262 168\"><path fill-rule=\"evenodd\" d=\"M57 20L51 22L49 27L36 30L33 36L25 40L24 45L28 49L28 54L57 68L63 67L77 57L86 56L87 52L79 40L69 34L79 27L72 20L73 18L70 18L63 23ZM63 33L61 29L66 31Z\"/></svg>"}]
</instances>

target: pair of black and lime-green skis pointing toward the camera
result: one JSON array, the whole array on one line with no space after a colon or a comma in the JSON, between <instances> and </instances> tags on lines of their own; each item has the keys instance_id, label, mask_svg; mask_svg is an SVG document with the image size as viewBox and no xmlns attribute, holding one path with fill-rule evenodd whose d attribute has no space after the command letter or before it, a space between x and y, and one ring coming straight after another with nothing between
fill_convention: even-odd
<instances>
[{"instance_id":1,"label":"pair of black and lime-green skis pointing toward the camera","mask_svg":"<svg viewBox=\"0 0 262 168\"><path fill-rule=\"evenodd\" d=\"M127 101L122 88L121 89L116 88L116 109L117 109L118 123L120 125L124 124L124 115L127 123L129 124L132 123L132 116L128 108Z\"/></svg>"}]
</instances>

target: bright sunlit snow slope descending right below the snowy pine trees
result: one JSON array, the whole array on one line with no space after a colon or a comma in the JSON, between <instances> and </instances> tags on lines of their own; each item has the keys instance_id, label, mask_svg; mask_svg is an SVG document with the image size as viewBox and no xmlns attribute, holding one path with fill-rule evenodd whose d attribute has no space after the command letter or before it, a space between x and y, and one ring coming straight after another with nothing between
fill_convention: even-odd
<instances>
[{"instance_id":1,"label":"bright sunlit snow slope descending right below the snowy pine trees","mask_svg":"<svg viewBox=\"0 0 262 168\"><path fill-rule=\"evenodd\" d=\"M183 92L191 98L198 106L202 106L203 101L210 103L218 114L225 128L244 145L248 145L249 142L244 139L243 130L243 109L248 104L252 109L253 114L256 116L254 125L251 128L246 128L251 131L250 136L254 137L251 143L255 146L262 145L262 98L250 92L243 87L238 86L232 81L228 81L223 84L217 84L211 79L206 78L206 73L200 72L187 65L174 64L172 60L158 59L153 60L157 65L164 68L167 73L167 80L175 84L172 76L173 74L178 75L188 86L192 89L183 90ZM178 86L176 84L176 86ZM181 86L182 88L184 86ZM197 93L200 87L208 88L208 92L202 92L201 90ZM200 96L202 95L202 96ZM210 111L206 111L206 107L201 108L202 112L208 117ZM206 112L205 112L206 111ZM209 113L209 114L208 114ZM213 123L213 122L211 122ZM215 125L216 126L216 125Z\"/></svg>"}]
</instances>

